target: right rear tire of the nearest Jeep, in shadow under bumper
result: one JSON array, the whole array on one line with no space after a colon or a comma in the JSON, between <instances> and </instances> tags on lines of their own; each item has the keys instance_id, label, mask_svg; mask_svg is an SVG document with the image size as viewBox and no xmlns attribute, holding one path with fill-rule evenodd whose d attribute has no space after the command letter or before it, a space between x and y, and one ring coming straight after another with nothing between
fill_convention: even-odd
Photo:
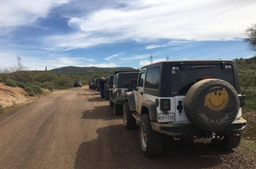
<instances>
[{"instance_id":1,"label":"right rear tire of the nearest Jeep, in shadow under bumper","mask_svg":"<svg viewBox=\"0 0 256 169\"><path fill-rule=\"evenodd\" d=\"M241 134L225 135L222 140L213 139L212 145L215 149L230 150L236 148L241 141Z\"/></svg>"}]
</instances>

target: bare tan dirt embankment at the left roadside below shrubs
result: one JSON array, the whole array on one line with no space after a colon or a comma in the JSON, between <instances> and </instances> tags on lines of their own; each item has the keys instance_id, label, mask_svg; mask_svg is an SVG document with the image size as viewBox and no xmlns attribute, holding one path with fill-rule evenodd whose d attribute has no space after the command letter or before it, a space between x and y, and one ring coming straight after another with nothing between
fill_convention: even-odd
<instances>
[{"instance_id":1,"label":"bare tan dirt embankment at the left roadside below shrubs","mask_svg":"<svg viewBox=\"0 0 256 169\"><path fill-rule=\"evenodd\" d=\"M43 92L48 92L48 90L45 89ZM10 87L4 83L0 83L0 105L4 108L11 105L27 103L32 98L35 97L29 97L23 88Z\"/></svg>"}]
</instances>

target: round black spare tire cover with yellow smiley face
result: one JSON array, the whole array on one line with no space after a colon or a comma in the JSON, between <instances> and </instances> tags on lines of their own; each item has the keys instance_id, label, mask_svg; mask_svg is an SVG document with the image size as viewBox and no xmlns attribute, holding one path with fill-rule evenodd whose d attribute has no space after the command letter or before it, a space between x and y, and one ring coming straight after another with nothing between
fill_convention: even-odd
<instances>
[{"instance_id":1,"label":"round black spare tire cover with yellow smiley face","mask_svg":"<svg viewBox=\"0 0 256 169\"><path fill-rule=\"evenodd\" d=\"M184 109L190 122L208 132L221 132L235 119L239 99L233 86L220 79L204 79L187 92Z\"/></svg>"}]
</instances>

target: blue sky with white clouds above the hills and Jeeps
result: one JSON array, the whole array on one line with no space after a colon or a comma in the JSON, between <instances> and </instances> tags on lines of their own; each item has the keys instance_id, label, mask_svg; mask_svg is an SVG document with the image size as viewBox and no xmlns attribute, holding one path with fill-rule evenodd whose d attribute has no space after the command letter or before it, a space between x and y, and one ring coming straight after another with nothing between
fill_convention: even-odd
<instances>
[{"instance_id":1,"label":"blue sky with white clouds above the hills and Jeeps","mask_svg":"<svg viewBox=\"0 0 256 169\"><path fill-rule=\"evenodd\" d=\"M248 58L255 0L0 0L0 68Z\"/></svg>"}]
</instances>

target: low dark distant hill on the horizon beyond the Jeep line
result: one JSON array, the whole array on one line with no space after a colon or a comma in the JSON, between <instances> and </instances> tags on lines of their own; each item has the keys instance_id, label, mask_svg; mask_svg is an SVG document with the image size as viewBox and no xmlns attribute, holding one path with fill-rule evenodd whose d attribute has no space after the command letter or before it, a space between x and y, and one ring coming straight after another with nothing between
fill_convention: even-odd
<instances>
[{"instance_id":1,"label":"low dark distant hill on the horizon beyond the Jeep line","mask_svg":"<svg viewBox=\"0 0 256 169\"><path fill-rule=\"evenodd\" d=\"M134 68L129 67L117 67L117 68L98 68L98 67L76 67L76 66L66 66L62 68L55 68L50 70L51 72L60 72L64 74L73 74L73 75L82 75L87 73L95 73L95 74L102 74L102 73L112 73L115 71L127 71L127 70L136 70Z\"/></svg>"}]
</instances>

